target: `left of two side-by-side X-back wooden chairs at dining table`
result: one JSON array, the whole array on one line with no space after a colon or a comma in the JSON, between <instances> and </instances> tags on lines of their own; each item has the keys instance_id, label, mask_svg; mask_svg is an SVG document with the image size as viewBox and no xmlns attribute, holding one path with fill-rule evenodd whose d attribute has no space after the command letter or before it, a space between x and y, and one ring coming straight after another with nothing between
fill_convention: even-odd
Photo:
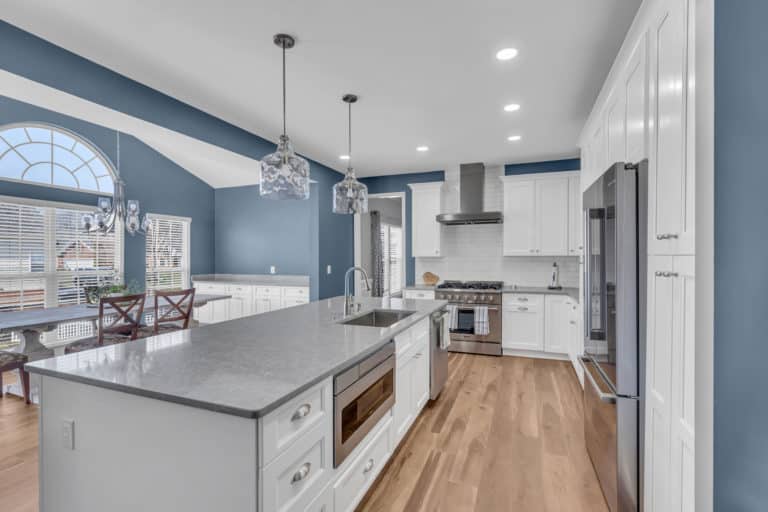
<instances>
[{"instance_id":1,"label":"left of two side-by-side X-back wooden chairs at dining table","mask_svg":"<svg viewBox=\"0 0 768 512\"><path fill-rule=\"evenodd\" d=\"M143 293L121 297L102 297L99 300L98 336L67 345L64 352L73 354L105 345L135 340L141 329L145 299L146 296Z\"/></svg>"}]
</instances>

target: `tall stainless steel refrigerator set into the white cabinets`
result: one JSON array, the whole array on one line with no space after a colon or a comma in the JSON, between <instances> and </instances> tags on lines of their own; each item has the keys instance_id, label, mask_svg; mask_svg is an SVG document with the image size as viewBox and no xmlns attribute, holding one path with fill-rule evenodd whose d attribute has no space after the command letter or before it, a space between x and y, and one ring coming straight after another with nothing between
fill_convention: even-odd
<instances>
[{"instance_id":1,"label":"tall stainless steel refrigerator set into the white cabinets","mask_svg":"<svg viewBox=\"0 0 768 512\"><path fill-rule=\"evenodd\" d=\"M643 510L648 161L584 192L584 436L612 512Z\"/></svg>"}]
</instances>

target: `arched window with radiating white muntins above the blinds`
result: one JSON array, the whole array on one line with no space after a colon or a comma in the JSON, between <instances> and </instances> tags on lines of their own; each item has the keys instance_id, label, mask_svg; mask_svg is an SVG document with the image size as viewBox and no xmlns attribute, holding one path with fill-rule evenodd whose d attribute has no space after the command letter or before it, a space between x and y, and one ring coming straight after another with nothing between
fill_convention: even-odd
<instances>
[{"instance_id":1,"label":"arched window with radiating white muntins above the blinds","mask_svg":"<svg viewBox=\"0 0 768 512\"><path fill-rule=\"evenodd\" d=\"M46 124L0 126L0 179L112 195L112 164L82 137Z\"/></svg>"}]
</instances>

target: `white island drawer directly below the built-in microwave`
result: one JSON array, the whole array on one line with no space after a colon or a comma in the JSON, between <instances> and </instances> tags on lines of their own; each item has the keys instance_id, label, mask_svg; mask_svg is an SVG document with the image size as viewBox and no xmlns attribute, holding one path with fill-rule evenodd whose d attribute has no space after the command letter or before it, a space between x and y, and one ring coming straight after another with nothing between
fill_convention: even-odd
<instances>
[{"instance_id":1,"label":"white island drawer directly below the built-in microwave","mask_svg":"<svg viewBox=\"0 0 768 512\"><path fill-rule=\"evenodd\" d=\"M336 481L333 489L334 510L336 512L354 510L376 475L386 464L391 452L389 447L391 424L391 417L387 417L386 424L379 429L373 439L367 443L363 451Z\"/></svg>"}]
</instances>

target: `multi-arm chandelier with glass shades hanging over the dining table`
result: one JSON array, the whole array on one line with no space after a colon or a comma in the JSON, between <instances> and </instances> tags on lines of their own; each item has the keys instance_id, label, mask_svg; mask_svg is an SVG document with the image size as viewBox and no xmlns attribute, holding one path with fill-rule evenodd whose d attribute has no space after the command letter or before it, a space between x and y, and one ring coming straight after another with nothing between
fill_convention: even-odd
<instances>
[{"instance_id":1,"label":"multi-arm chandelier with glass shades hanging over the dining table","mask_svg":"<svg viewBox=\"0 0 768 512\"><path fill-rule=\"evenodd\" d=\"M130 235L146 234L150 230L151 221L144 215L140 217L139 202L135 199L125 200L125 182L120 176L120 132L117 132L117 169L115 172L115 192L112 199L100 197L96 202L96 211L86 213L82 217L82 226L90 233L111 233L118 221L125 224L125 230Z\"/></svg>"}]
</instances>

